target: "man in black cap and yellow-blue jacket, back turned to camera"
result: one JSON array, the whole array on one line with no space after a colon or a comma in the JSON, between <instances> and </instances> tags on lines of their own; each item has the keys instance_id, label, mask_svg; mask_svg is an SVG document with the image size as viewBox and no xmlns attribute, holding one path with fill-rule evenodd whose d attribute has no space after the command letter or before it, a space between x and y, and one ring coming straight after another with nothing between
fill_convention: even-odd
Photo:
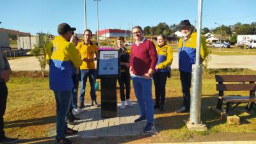
<instances>
[{"instance_id":1,"label":"man in black cap and yellow-blue jacket, back turned to camera","mask_svg":"<svg viewBox=\"0 0 256 144\"><path fill-rule=\"evenodd\" d=\"M54 91L56 99L56 143L72 144L73 142L65 138L65 135L78 132L68 128L65 123L74 87L72 73L74 72L74 67L78 68L82 64L75 45L70 42L72 31L75 30L76 28L71 28L66 23L60 24L58 26L59 36L56 36L46 48L46 60L50 68L50 89Z\"/></svg>"}]
</instances>

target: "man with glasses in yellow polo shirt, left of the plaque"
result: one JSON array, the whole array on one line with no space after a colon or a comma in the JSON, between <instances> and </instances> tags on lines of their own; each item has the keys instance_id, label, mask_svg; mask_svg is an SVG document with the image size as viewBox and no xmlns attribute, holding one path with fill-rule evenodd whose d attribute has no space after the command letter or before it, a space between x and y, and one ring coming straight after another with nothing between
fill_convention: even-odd
<instances>
[{"instance_id":1,"label":"man with glasses in yellow polo shirt, left of the plaque","mask_svg":"<svg viewBox=\"0 0 256 144\"><path fill-rule=\"evenodd\" d=\"M84 31L84 40L83 42L79 42L76 46L77 51L79 52L81 58L83 59L83 63L80 67L81 70L81 90L79 95L79 108L84 108L84 95L86 88L87 77L89 77L89 82L91 86L91 99L92 106L99 107L99 104L96 101L96 90L95 90L95 74L96 68L94 61L97 60L98 56L98 47L96 44L93 44L91 41L92 31L90 29L86 29Z\"/></svg>"}]
</instances>

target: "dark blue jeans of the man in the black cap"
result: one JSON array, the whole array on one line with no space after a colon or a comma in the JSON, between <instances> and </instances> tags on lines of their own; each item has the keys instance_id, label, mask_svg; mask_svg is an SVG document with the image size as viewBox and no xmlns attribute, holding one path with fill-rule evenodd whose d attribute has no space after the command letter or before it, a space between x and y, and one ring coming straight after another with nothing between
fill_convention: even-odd
<instances>
[{"instance_id":1,"label":"dark blue jeans of the man in the black cap","mask_svg":"<svg viewBox=\"0 0 256 144\"><path fill-rule=\"evenodd\" d=\"M57 110L57 139L65 137L65 130L67 123L65 117L67 116L70 102L72 99L72 90L70 91L54 91Z\"/></svg>"}]
</instances>

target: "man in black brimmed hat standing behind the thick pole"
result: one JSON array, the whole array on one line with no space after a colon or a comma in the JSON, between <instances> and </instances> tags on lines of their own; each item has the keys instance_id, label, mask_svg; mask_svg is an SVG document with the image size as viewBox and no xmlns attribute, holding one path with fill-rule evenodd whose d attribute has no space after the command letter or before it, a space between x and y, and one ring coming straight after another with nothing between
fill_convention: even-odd
<instances>
[{"instance_id":1,"label":"man in black brimmed hat standing behind the thick pole","mask_svg":"<svg viewBox=\"0 0 256 144\"><path fill-rule=\"evenodd\" d=\"M192 65L196 61L196 32L191 26L189 20L180 22L180 30L182 36L179 40L179 71L180 81L183 93L183 106L177 109L176 113L187 113L190 108L190 87L191 87L191 72ZM201 36L200 56L201 63L206 58L208 51L204 36Z\"/></svg>"}]
</instances>

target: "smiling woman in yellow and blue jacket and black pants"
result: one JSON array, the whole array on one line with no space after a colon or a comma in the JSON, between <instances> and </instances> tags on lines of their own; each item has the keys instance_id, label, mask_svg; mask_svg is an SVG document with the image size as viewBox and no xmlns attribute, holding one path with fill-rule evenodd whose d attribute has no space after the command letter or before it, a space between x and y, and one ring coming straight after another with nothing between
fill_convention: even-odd
<instances>
[{"instance_id":1,"label":"smiling woman in yellow and blue jacket and black pants","mask_svg":"<svg viewBox=\"0 0 256 144\"><path fill-rule=\"evenodd\" d=\"M166 36L157 36L157 64L153 79L156 95L156 103L154 108L159 108L159 111L164 111L165 85L168 75L170 76L170 65L172 64L173 60L172 47L166 43Z\"/></svg>"}]
</instances>

